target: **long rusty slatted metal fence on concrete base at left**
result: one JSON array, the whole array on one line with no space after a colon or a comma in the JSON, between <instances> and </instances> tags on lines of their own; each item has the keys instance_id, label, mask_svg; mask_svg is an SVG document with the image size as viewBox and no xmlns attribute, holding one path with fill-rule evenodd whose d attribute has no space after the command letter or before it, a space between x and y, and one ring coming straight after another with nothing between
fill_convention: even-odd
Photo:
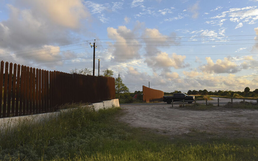
<instances>
[{"instance_id":1,"label":"long rusty slatted metal fence on concrete base at left","mask_svg":"<svg viewBox=\"0 0 258 161\"><path fill-rule=\"evenodd\" d=\"M52 112L65 103L115 99L115 79L1 61L0 91L0 118L4 118Z\"/></svg>"}]
</instances>

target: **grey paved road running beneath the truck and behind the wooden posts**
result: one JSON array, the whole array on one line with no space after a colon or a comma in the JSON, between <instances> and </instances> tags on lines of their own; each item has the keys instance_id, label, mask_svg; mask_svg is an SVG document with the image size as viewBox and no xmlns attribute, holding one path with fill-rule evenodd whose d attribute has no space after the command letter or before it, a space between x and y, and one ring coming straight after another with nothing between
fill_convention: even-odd
<instances>
[{"instance_id":1,"label":"grey paved road running beneath the truck and behind the wooden posts","mask_svg":"<svg viewBox=\"0 0 258 161\"><path fill-rule=\"evenodd\" d=\"M208 103L211 103L213 105L217 105L218 104L218 98L216 97L211 97L213 100L208 100ZM233 103L234 102L241 102L243 101L242 99L233 99ZM245 100L246 102L256 102L256 100ZM225 105L227 104L228 102L231 102L231 98L219 98L219 104L220 105ZM206 101L205 100L199 100L199 101L196 101L196 103L200 103L200 104L205 104ZM148 105L163 105L163 104L167 104L165 102L160 102L160 103L148 103ZM179 106L183 104L182 102L180 103L173 103L173 105L175 106ZM186 103L187 104L187 103ZM132 105L132 104L121 104L121 105ZM134 103L133 105L143 105L142 103Z\"/></svg>"}]
</instances>

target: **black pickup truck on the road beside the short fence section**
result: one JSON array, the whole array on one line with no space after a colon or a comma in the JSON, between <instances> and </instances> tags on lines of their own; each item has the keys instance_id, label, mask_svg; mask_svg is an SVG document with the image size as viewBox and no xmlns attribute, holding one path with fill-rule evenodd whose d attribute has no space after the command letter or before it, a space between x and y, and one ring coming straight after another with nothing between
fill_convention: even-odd
<instances>
[{"instance_id":1,"label":"black pickup truck on the road beside the short fence section","mask_svg":"<svg viewBox=\"0 0 258 161\"><path fill-rule=\"evenodd\" d=\"M174 93L173 96L163 96L163 102L167 102L167 104L170 104L173 100L173 102L183 102L183 99L185 102L192 103L194 101L194 96L186 95L184 93Z\"/></svg>"}]
</instances>

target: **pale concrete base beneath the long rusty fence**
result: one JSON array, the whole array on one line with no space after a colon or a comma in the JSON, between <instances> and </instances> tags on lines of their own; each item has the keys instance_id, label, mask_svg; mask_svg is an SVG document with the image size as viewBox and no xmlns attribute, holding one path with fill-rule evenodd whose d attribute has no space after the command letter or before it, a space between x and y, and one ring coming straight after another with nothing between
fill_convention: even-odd
<instances>
[{"instance_id":1,"label":"pale concrete base beneath the long rusty fence","mask_svg":"<svg viewBox=\"0 0 258 161\"><path fill-rule=\"evenodd\" d=\"M118 99L102 101L100 103L92 103L89 106L92 106L95 109L95 111L98 111L99 109L120 107ZM82 106L82 107L85 107L85 106ZM57 117L58 115L60 115L61 112L66 112L73 109L76 109L76 108L57 110L57 112L50 112L50 113L40 113L40 114L34 114L34 115L0 118L0 130L4 130L5 128L13 128L15 125L19 125L20 123L23 123L25 120L26 120L26 123L38 123L41 121L45 121L50 118Z\"/></svg>"}]
</instances>

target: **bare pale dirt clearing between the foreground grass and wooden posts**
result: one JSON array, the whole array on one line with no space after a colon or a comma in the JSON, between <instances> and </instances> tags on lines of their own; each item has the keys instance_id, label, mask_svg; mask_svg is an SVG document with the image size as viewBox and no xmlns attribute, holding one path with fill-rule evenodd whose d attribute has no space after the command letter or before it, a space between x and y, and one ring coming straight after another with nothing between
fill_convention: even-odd
<instances>
[{"instance_id":1,"label":"bare pale dirt clearing between the foreground grass and wooden posts","mask_svg":"<svg viewBox=\"0 0 258 161\"><path fill-rule=\"evenodd\" d=\"M179 135L192 130L222 136L257 137L258 110L189 110L168 104L121 105L120 120L134 127L152 128L160 133Z\"/></svg>"}]
</instances>

